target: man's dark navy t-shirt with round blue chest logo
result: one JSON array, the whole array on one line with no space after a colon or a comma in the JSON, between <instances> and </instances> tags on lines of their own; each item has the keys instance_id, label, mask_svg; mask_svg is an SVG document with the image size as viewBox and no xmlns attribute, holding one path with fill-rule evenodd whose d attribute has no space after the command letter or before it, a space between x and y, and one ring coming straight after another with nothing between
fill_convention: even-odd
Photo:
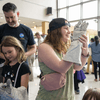
<instances>
[{"instance_id":1,"label":"man's dark navy t-shirt with round blue chest logo","mask_svg":"<svg viewBox=\"0 0 100 100\"><path fill-rule=\"evenodd\" d=\"M21 41L25 52L27 51L27 45L34 45L35 40L31 29L23 24L18 27L10 27L8 24L0 26L0 44L4 36L14 36Z\"/></svg>"}]
</instances>

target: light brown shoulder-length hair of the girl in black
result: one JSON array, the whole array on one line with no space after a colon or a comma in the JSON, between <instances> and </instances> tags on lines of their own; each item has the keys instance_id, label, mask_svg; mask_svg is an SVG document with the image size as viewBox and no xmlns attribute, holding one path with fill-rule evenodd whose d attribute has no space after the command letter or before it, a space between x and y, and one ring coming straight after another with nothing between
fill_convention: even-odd
<instances>
[{"instance_id":1,"label":"light brown shoulder-length hair of the girl in black","mask_svg":"<svg viewBox=\"0 0 100 100\"><path fill-rule=\"evenodd\" d=\"M3 41L0 46L1 52L4 54L3 47L14 47L17 52L17 60L19 63L26 60L25 52L23 46L21 45L20 41L13 36L6 36L3 38ZM8 48L9 49L9 48ZM6 58L6 56L5 56ZM6 58L5 64L8 64L10 61Z\"/></svg>"}]
</instances>

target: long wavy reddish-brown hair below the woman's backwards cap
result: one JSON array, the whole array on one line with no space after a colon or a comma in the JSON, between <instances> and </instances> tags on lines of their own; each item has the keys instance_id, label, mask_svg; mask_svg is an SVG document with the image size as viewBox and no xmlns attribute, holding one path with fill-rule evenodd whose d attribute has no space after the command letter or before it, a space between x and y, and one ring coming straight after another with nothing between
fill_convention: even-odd
<instances>
[{"instance_id":1,"label":"long wavy reddish-brown hair below the woman's backwards cap","mask_svg":"<svg viewBox=\"0 0 100 100\"><path fill-rule=\"evenodd\" d=\"M44 43L49 43L59 53L67 51L67 44L62 41L61 28L55 29L48 33Z\"/></svg>"}]
</instances>

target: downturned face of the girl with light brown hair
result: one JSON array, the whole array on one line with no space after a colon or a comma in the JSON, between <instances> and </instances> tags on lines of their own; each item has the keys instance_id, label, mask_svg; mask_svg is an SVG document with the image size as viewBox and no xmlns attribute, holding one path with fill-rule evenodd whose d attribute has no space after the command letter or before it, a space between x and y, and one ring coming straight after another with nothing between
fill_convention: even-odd
<instances>
[{"instance_id":1,"label":"downturned face of the girl with light brown hair","mask_svg":"<svg viewBox=\"0 0 100 100\"><path fill-rule=\"evenodd\" d=\"M5 55L5 57L11 61L16 62L17 61L17 51L14 47L2 47L2 52Z\"/></svg>"}]
</instances>

